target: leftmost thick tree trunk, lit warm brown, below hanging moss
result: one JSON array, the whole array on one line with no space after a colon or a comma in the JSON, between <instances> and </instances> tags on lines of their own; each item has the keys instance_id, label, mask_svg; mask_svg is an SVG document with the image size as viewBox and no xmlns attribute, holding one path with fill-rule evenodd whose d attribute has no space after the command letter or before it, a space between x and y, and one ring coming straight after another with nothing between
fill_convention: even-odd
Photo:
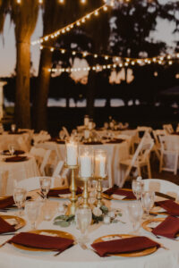
<instances>
[{"instance_id":1,"label":"leftmost thick tree trunk, lit warm brown, below hanging moss","mask_svg":"<svg viewBox=\"0 0 179 268\"><path fill-rule=\"evenodd\" d=\"M18 128L30 129L30 38L17 42L15 122Z\"/></svg>"}]
</instances>

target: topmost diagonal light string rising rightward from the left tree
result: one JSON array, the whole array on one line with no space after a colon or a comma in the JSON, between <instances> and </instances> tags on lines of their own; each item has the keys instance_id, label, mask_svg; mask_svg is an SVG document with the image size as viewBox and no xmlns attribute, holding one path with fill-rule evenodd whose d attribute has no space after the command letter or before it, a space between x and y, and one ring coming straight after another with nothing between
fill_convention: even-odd
<instances>
[{"instance_id":1,"label":"topmost diagonal light string rising rightward from the left tree","mask_svg":"<svg viewBox=\"0 0 179 268\"><path fill-rule=\"evenodd\" d=\"M43 38L39 38L38 40L32 41L31 45L34 46L34 45L37 45L37 44L47 42L49 39L57 38L61 34L64 34L66 32L69 32L70 30L72 30L74 28L74 26L81 26L81 24L84 24L86 21L89 21L91 16L98 16L98 14L101 11L107 12L107 9L108 9L108 4L103 4L102 6L98 7L97 9L95 9L93 12L87 13L85 16L81 17L81 19L68 24L64 28L58 29L58 30L56 30L55 32L53 32L51 34L49 34L47 36L44 36Z\"/></svg>"}]
</instances>

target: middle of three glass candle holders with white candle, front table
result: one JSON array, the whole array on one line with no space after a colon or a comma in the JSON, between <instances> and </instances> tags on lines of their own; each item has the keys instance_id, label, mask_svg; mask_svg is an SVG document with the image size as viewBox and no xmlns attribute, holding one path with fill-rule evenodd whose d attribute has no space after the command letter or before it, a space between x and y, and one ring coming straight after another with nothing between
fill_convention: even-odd
<instances>
[{"instance_id":1,"label":"middle of three glass candle holders with white candle, front table","mask_svg":"<svg viewBox=\"0 0 179 268\"><path fill-rule=\"evenodd\" d=\"M91 178L94 168L94 150L93 147L79 148L79 177Z\"/></svg>"}]
</instances>

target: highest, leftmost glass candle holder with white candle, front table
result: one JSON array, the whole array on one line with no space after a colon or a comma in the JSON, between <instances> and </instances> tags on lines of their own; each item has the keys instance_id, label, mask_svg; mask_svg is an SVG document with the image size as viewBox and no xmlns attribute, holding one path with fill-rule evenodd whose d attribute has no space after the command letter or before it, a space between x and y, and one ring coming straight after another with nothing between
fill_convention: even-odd
<instances>
[{"instance_id":1,"label":"highest, leftmost glass candle holder with white candle, front table","mask_svg":"<svg viewBox=\"0 0 179 268\"><path fill-rule=\"evenodd\" d=\"M66 164L75 166L78 164L78 141L74 137L65 138Z\"/></svg>"}]
</instances>

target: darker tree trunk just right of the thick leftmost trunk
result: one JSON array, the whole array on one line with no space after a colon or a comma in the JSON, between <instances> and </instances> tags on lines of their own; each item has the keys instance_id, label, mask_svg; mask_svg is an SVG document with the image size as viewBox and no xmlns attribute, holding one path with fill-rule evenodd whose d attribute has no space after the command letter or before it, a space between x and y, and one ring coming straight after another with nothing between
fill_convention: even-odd
<instances>
[{"instance_id":1,"label":"darker tree trunk just right of the thick leftmost trunk","mask_svg":"<svg viewBox=\"0 0 179 268\"><path fill-rule=\"evenodd\" d=\"M40 56L38 88L34 100L35 129L47 130L47 97L49 91L51 73L52 53L49 49L43 49Z\"/></svg>"}]
</instances>

